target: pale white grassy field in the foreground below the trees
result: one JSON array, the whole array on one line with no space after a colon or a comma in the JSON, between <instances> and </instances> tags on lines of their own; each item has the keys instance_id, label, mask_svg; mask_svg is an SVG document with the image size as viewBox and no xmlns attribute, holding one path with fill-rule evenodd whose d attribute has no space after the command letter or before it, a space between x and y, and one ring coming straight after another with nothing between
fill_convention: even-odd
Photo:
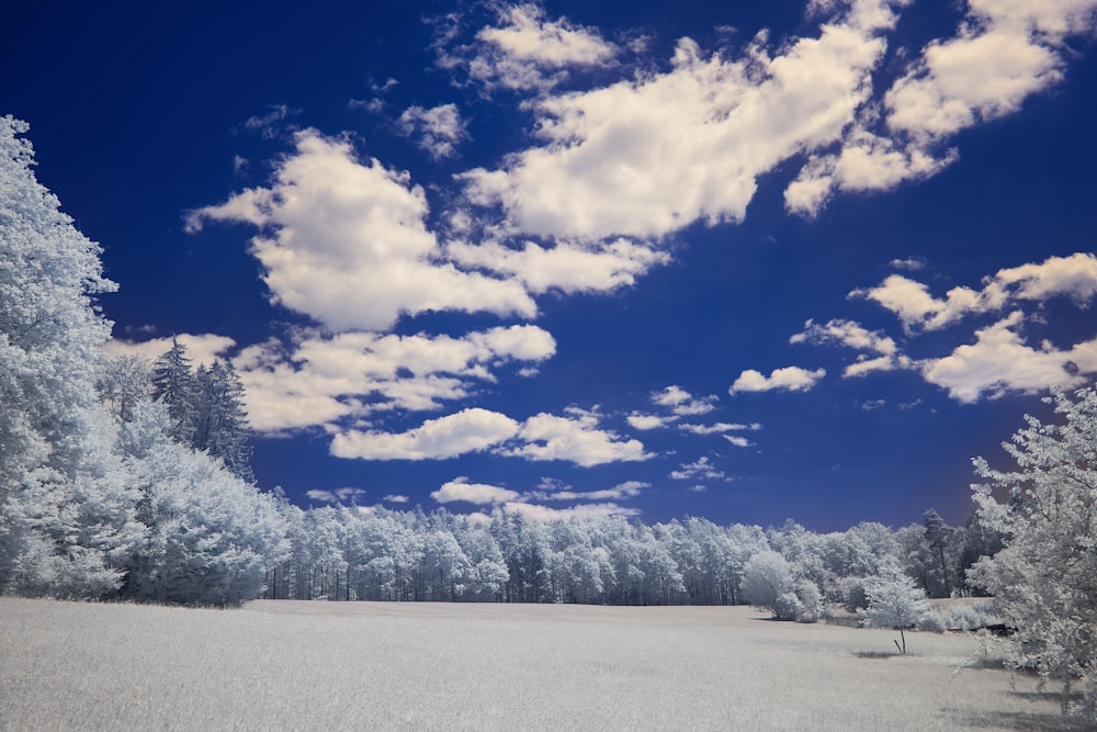
<instances>
[{"instance_id":1,"label":"pale white grassy field in the foreground below the trees","mask_svg":"<svg viewBox=\"0 0 1097 732\"><path fill-rule=\"evenodd\" d=\"M0 730L1030 730L975 639L749 608L0 598ZM985 665L985 664L976 664Z\"/></svg>"}]
</instances>

